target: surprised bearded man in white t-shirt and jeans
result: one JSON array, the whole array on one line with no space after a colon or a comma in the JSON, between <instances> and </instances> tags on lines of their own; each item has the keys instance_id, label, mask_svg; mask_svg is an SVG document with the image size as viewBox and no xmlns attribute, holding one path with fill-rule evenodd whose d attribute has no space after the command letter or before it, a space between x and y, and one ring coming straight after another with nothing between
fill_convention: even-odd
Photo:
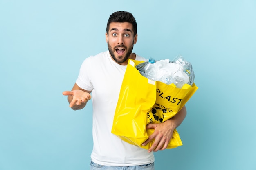
<instances>
[{"instance_id":1,"label":"surprised bearded man in white t-shirt and jeans","mask_svg":"<svg viewBox=\"0 0 256 170\"><path fill-rule=\"evenodd\" d=\"M148 129L155 129L147 144L155 139L149 150L122 141L111 133L115 108L119 97L122 80L128 59L146 61L132 53L137 42L137 23L131 13L119 11L110 15L106 28L108 51L85 59L72 91L65 91L70 107L83 109L92 93L93 104L93 150L91 169L153 170L152 151L164 150L173 134L186 116L183 107L173 118L161 124L149 124Z\"/></svg>"}]
</instances>

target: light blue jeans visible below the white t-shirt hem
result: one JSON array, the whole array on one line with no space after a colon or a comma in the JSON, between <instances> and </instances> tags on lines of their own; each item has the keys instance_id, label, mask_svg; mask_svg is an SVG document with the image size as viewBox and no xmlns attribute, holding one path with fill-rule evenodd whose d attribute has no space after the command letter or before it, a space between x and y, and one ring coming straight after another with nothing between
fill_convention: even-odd
<instances>
[{"instance_id":1,"label":"light blue jeans visible below the white t-shirt hem","mask_svg":"<svg viewBox=\"0 0 256 170\"><path fill-rule=\"evenodd\" d=\"M155 170L154 162L146 165L137 166L105 166L91 161L90 170Z\"/></svg>"}]
</instances>

